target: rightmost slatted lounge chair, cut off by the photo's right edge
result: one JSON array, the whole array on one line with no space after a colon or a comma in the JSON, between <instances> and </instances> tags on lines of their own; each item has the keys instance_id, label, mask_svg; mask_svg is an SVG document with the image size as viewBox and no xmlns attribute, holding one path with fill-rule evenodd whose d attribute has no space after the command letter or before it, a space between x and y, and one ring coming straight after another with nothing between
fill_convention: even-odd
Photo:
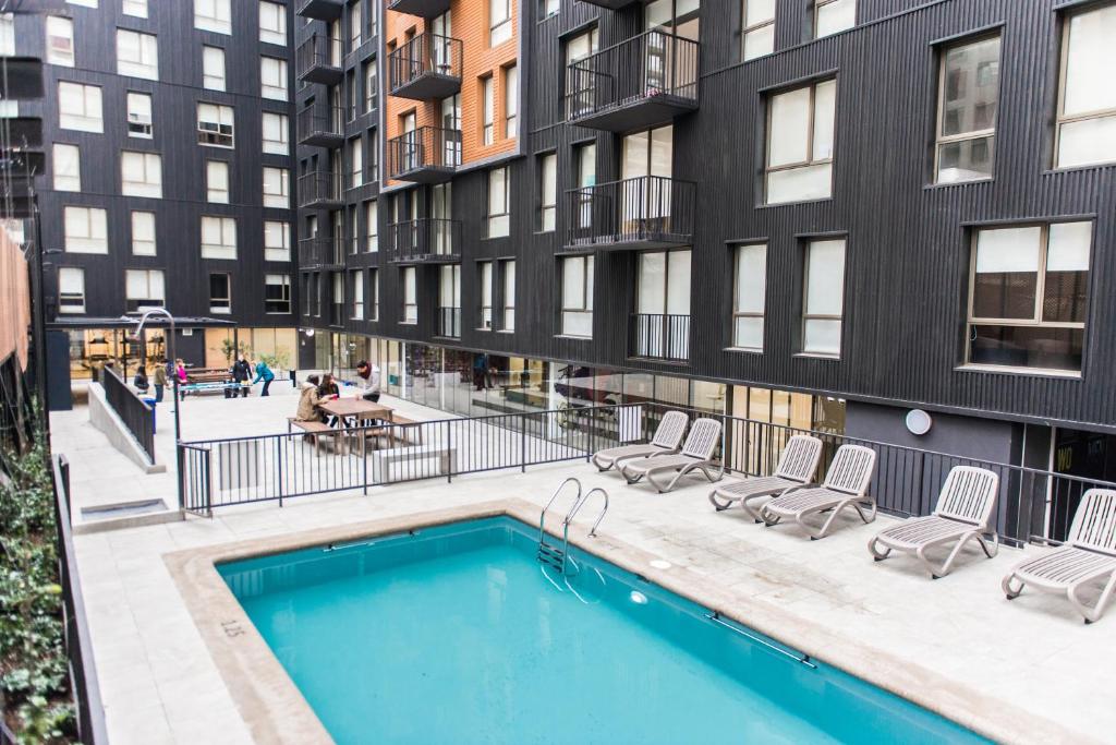
<instances>
[{"instance_id":1,"label":"rightmost slatted lounge chair, cut off by the photo's right edge","mask_svg":"<svg viewBox=\"0 0 1116 745\"><path fill-rule=\"evenodd\" d=\"M1104 583L1093 605L1081 600L1083 588ZM1061 548L1017 564L1003 577L1003 593L1014 600L1031 585L1066 593L1077 612L1093 623L1105 612L1116 590L1116 489L1089 489L1074 514L1074 524Z\"/></svg>"}]
</instances>

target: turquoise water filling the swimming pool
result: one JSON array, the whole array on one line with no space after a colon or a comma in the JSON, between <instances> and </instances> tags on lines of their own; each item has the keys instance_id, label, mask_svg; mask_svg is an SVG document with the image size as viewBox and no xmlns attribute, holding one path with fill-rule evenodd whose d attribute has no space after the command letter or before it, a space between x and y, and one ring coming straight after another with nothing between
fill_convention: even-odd
<instances>
[{"instance_id":1,"label":"turquoise water filling the swimming pool","mask_svg":"<svg viewBox=\"0 0 1116 745\"><path fill-rule=\"evenodd\" d=\"M219 566L334 739L348 743L978 743L956 724L574 551L458 523Z\"/></svg>"}]
</instances>

